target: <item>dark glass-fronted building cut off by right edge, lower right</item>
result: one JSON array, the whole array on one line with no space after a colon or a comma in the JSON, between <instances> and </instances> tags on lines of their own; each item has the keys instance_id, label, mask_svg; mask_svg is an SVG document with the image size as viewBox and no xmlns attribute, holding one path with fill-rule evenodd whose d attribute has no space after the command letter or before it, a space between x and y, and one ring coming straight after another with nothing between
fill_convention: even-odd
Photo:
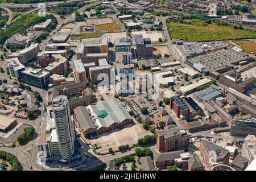
<instances>
[{"instance_id":1,"label":"dark glass-fronted building cut off by right edge, lower right","mask_svg":"<svg viewBox=\"0 0 256 182\"><path fill-rule=\"evenodd\" d=\"M247 137L247 135L256 135L256 118L237 120L230 127L230 135L234 137Z\"/></svg>"}]
</instances>

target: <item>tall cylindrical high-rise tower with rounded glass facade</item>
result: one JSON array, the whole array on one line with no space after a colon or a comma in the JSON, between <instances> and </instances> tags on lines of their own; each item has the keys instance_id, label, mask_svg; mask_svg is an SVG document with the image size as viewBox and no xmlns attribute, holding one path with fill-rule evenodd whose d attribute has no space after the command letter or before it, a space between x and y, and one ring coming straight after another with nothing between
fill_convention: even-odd
<instances>
[{"instance_id":1,"label":"tall cylindrical high-rise tower with rounded glass facade","mask_svg":"<svg viewBox=\"0 0 256 182\"><path fill-rule=\"evenodd\" d=\"M75 154L76 136L67 96L53 98L52 110L59 141L60 158L63 162L69 162Z\"/></svg>"}]
</instances>

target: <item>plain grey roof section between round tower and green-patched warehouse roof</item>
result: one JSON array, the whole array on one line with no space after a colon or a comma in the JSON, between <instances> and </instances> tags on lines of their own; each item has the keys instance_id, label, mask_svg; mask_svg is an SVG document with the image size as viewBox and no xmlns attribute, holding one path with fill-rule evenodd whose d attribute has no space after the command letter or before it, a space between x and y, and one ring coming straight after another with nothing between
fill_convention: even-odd
<instances>
[{"instance_id":1,"label":"plain grey roof section between round tower and green-patched warehouse roof","mask_svg":"<svg viewBox=\"0 0 256 182\"><path fill-rule=\"evenodd\" d=\"M74 109L74 115L76 115L77 122L79 122L80 126L84 130L95 129L96 127L92 123L92 119L88 114L85 107L79 106Z\"/></svg>"}]
</instances>

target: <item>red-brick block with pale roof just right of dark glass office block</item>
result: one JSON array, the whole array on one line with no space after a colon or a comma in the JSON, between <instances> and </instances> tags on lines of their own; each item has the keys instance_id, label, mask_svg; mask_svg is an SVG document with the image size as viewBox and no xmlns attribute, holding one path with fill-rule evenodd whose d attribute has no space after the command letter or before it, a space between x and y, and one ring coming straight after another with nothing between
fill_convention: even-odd
<instances>
[{"instance_id":1,"label":"red-brick block with pale roof just right of dark glass office block","mask_svg":"<svg viewBox=\"0 0 256 182\"><path fill-rule=\"evenodd\" d=\"M68 69L68 60L61 55L52 55L52 63L49 63L46 67L46 71L50 72L51 75L61 75Z\"/></svg>"}]
</instances>

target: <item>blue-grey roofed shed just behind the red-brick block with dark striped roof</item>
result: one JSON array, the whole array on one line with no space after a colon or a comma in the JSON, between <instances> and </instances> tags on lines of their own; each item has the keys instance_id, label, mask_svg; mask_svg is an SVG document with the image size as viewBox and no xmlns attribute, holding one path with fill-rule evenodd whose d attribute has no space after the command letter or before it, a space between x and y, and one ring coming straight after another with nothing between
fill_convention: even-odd
<instances>
[{"instance_id":1,"label":"blue-grey roofed shed just behind the red-brick block with dark striped roof","mask_svg":"<svg viewBox=\"0 0 256 182\"><path fill-rule=\"evenodd\" d=\"M222 96L222 92L220 86L212 84L209 88L197 92L195 96L197 100L204 102Z\"/></svg>"}]
</instances>

